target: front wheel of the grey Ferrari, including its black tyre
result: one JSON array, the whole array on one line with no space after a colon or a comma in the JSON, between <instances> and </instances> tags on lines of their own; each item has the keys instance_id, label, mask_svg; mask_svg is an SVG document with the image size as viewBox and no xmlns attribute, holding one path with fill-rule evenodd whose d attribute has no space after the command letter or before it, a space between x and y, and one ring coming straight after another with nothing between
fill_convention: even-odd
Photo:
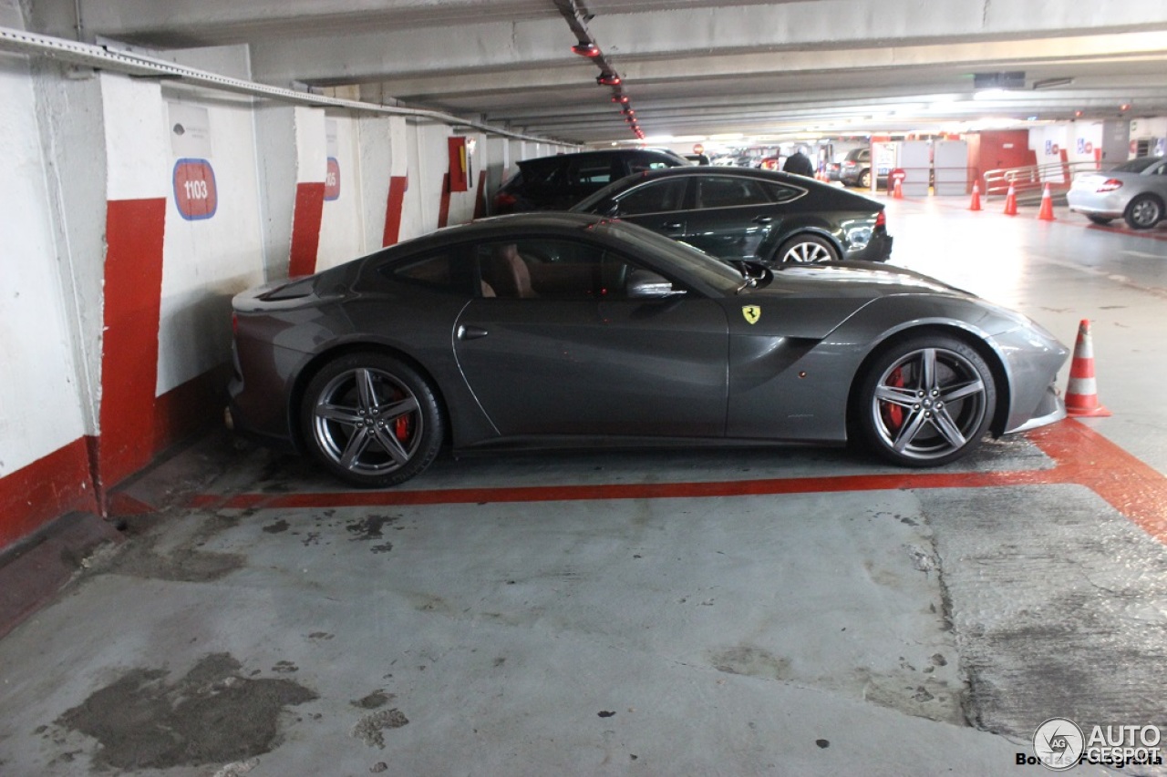
<instances>
[{"instance_id":1,"label":"front wheel of the grey Ferrari, including its black tyre","mask_svg":"<svg viewBox=\"0 0 1167 777\"><path fill-rule=\"evenodd\" d=\"M980 444L997 406L988 364L949 335L895 343L860 379L864 439L902 467L939 467L966 456Z\"/></svg>"}]
</instances>

